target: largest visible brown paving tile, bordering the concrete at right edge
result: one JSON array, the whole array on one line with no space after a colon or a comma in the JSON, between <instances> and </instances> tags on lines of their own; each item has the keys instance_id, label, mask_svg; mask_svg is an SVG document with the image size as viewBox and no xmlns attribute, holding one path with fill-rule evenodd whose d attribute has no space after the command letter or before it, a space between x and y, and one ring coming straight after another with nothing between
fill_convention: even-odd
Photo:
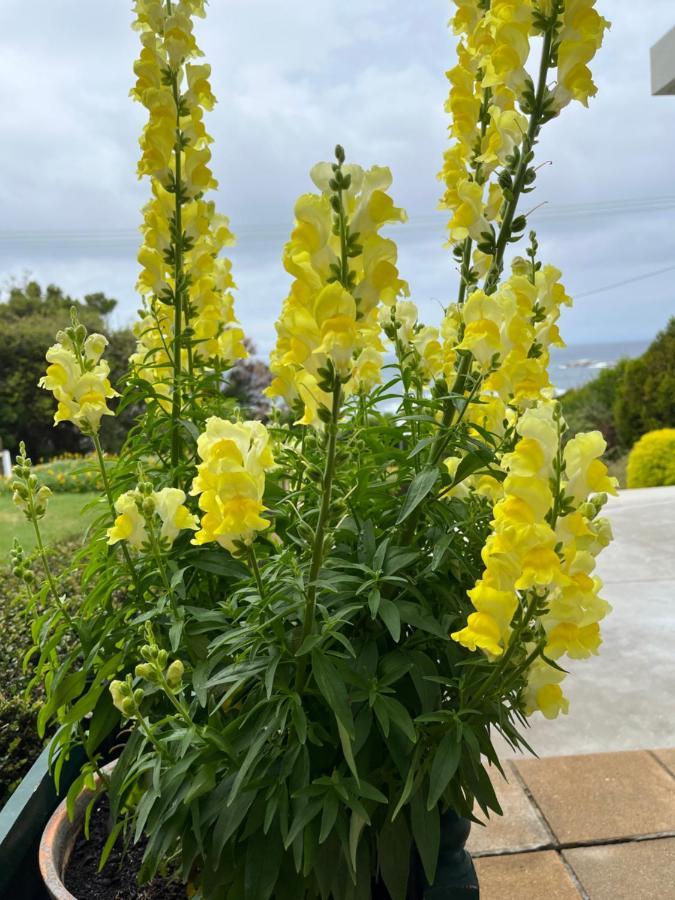
<instances>
[{"instance_id":1,"label":"largest visible brown paving tile, bordering the concrete at right edge","mask_svg":"<svg viewBox=\"0 0 675 900\"><path fill-rule=\"evenodd\" d=\"M514 765L561 844L675 833L675 779L646 751Z\"/></svg>"}]
</instances>

